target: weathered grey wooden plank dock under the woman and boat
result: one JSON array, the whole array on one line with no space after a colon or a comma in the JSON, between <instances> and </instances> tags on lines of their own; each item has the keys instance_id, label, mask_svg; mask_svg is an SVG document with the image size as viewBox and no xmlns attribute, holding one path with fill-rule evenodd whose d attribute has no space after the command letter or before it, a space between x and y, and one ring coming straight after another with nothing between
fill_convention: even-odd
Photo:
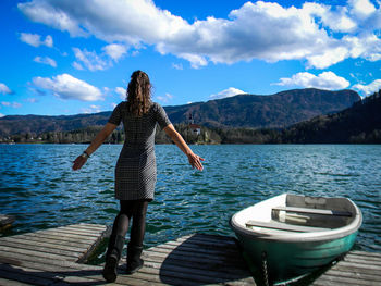
<instances>
[{"instance_id":1,"label":"weathered grey wooden plank dock under the woman and boat","mask_svg":"<svg viewBox=\"0 0 381 286\"><path fill-rule=\"evenodd\" d=\"M84 262L108 234L103 225L75 224L0 237L0 285L103 285L102 266ZM123 258L109 285L256 285L232 237L183 236L145 250L143 259L144 268L126 275ZM351 251L305 285L381 285L379 273L381 253Z\"/></svg>"}]
</instances>

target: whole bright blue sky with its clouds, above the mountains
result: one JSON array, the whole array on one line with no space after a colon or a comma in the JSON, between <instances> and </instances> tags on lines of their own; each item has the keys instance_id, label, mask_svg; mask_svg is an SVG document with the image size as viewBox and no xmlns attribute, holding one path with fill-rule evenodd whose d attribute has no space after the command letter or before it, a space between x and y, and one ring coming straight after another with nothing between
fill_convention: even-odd
<instances>
[{"instance_id":1,"label":"whole bright blue sky with its clouds, above the mountains","mask_svg":"<svg viewBox=\"0 0 381 286\"><path fill-rule=\"evenodd\" d=\"M135 70L162 105L381 88L381 1L0 1L0 116L110 111Z\"/></svg>"}]
</instances>

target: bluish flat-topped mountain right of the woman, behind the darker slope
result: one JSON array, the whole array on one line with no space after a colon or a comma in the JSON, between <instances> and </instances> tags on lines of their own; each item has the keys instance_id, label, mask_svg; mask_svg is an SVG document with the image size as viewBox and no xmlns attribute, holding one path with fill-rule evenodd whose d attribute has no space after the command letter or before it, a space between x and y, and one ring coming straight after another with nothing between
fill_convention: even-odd
<instances>
[{"instance_id":1,"label":"bluish flat-topped mountain right of the woman, behind the darker slope","mask_svg":"<svg viewBox=\"0 0 381 286\"><path fill-rule=\"evenodd\" d=\"M186 105L165 107L174 123L194 121L209 127L286 127L321 114L334 113L359 101L353 90L294 89L271 96L235 97Z\"/></svg>"}]
</instances>

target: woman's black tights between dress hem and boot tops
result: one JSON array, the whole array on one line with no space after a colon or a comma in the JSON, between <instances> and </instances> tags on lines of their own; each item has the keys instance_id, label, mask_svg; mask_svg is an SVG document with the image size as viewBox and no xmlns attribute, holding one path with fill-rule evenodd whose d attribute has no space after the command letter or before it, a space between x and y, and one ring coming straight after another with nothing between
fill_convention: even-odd
<instances>
[{"instance_id":1,"label":"woman's black tights between dress hem and boot tops","mask_svg":"<svg viewBox=\"0 0 381 286\"><path fill-rule=\"evenodd\" d=\"M130 221L133 219L130 243L134 246L143 246L146 231L146 213L149 201L150 200L121 200L121 210L114 220L112 234L125 237Z\"/></svg>"}]
</instances>

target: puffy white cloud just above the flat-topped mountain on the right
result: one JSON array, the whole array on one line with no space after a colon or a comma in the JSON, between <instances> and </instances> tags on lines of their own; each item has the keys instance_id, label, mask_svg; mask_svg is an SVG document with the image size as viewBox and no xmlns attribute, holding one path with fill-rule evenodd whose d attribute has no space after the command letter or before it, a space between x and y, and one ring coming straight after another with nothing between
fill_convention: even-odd
<instances>
[{"instance_id":1,"label":"puffy white cloud just above the flat-topped mountain on the right","mask_svg":"<svg viewBox=\"0 0 381 286\"><path fill-rule=\"evenodd\" d=\"M310 73L297 73L292 77L283 77L275 85L300 86L322 89L343 89L349 86L349 82L332 72L323 72L318 76Z\"/></svg>"}]
</instances>

